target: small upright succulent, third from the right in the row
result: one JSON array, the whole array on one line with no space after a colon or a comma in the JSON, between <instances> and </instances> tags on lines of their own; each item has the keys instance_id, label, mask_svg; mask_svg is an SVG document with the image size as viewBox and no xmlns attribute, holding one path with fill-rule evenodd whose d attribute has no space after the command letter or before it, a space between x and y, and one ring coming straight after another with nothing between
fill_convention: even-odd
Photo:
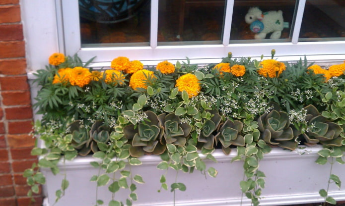
<instances>
[{"instance_id":1,"label":"small upright succulent, third from the right in the row","mask_svg":"<svg viewBox=\"0 0 345 206\"><path fill-rule=\"evenodd\" d=\"M228 119L219 125L214 139L216 144L220 142L224 154L230 154L231 145L245 146L244 137L240 135L242 128L243 123L238 120L232 121Z\"/></svg>"}]
</instances>

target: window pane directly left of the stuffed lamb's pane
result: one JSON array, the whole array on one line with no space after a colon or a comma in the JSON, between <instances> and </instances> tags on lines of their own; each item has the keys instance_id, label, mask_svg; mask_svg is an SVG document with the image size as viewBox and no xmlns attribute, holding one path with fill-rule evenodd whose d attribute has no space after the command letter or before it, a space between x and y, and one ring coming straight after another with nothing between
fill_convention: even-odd
<instances>
[{"instance_id":1,"label":"window pane directly left of the stuffed lamb's pane","mask_svg":"<svg viewBox=\"0 0 345 206\"><path fill-rule=\"evenodd\" d=\"M158 44L220 44L226 0L159 0Z\"/></svg>"}]
</instances>

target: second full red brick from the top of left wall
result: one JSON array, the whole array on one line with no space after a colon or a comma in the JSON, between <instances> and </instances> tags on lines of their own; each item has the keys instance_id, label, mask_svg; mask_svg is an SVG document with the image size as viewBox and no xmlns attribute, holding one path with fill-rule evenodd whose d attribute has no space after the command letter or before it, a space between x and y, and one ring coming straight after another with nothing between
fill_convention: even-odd
<instances>
[{"instance_id":1,"label":"second full red brick from the top of left wall","mask_svg":"<svg viewBox=\"0 0 345 206\"><path fill-rule=\"evenodd\" d=\"M23 40L23 26L21 24L0 25L1 41L19 41Z\"/></svg>"}]
</instances>

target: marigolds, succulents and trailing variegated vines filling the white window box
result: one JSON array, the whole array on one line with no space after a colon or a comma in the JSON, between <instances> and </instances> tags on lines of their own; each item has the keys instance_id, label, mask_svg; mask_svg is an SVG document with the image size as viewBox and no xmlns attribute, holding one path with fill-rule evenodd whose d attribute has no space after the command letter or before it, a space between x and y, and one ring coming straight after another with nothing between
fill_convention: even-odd
<instances>
[{"instance_id":1,"label":"marigolds, succulents and trailing variegated vines filling the white window box","mask_svg":"<svg viewBox=\"0 0 345 206\"><path fill-rule=\"evenodd\" d=\"M36 73L42 88L34 106L43 116L35 132L45 147L32 150L40 159L24 172L28 196L45 184L39 169L46 167L64 176L58 202L70 192L58 162L92 155L91 165L99 172L91 181L107 185L113 194L106 204L131 206L140 195L136 184L144 180L126 165L140 165L139 157L155 154L162 159L158 169L199 170L216 177L217 170L207 168L205 160L216 161L212 153L221 149L224 154L237 151L232 161L243 161L240 189L258 206L266 178L259 162L272 147L321 144L316 163L328 163L331 175L319 193L325 204L335 205L328 188L340 188L332 166L345 163L345 63L327 69L306 59L284 64L274 59L275 52L260 60L228 53L222 62L203 67L187 58L144 68L138 60L117 57L107 70L88 68L93 59L83 63L76 55L54 53L46 69ZM186 190L176 180L169 186L166 178L163 174L157 180L159 191ZM114 198L120 189L129 191L125 203ZM102 204L96 196L96 205Z\"/></svg>"}]
</instances>

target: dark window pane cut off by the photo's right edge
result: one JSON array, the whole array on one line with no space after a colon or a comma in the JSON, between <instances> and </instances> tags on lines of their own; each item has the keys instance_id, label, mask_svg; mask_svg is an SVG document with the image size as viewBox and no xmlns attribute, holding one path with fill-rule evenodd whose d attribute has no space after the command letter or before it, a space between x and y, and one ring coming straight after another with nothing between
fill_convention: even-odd
<instances>
[{"instance_id":1,"label":"dark window pane cut off by the photo's right edge","mask_svg":"<svg viewBox=\"0 0 345 206\"><path fill-rule=\"evenodd\" d=\"M300 41L345 39L345 0L307 0Z\"/></svg>"}]
</instances>

